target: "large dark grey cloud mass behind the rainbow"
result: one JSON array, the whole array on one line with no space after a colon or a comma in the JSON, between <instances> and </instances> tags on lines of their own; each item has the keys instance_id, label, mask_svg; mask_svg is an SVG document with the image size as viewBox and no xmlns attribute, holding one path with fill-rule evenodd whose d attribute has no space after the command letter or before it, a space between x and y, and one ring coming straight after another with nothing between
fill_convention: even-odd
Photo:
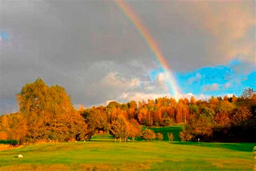
<instances>
[{"instance_id":1,"label":"large dark grey cloud mass behind the rainbow","mask_svg":"<svg viewBox=\"0 0 256 171\"><path fill-rule=\"evenodd\" d=\"M218 53L215 59L208 55L218 41L190 20L190 4L128 4L174 72L227 61ZM150 69L157 67L153 51L114 1L2 1L1 5L0 31L11 39L0 41L0 112L16 108L16 93L36 77L48 85L64 86L74 104L85 106L126 90L104 86L101 81L110 72L126 81L138 78L141 85L129 91L166 93L148 78ZM253 31L248 34L251 37Z\"/></svg>"}]
</instances>

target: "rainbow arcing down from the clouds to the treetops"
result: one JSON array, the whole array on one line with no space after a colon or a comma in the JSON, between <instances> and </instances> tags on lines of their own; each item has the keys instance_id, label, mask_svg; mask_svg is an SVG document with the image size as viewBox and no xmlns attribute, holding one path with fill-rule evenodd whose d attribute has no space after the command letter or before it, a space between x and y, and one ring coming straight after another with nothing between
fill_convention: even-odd
<instances>
[{"instance_id":1,"label":"rainbow arcing down from the clouds to the treetops","mask_svg":"<svg viewBox=\"0 0 256 171\"><path fill-rule=\"evenodd\" d=\"M174 76L170 71L170 66L168 65L168 63L166 62L166 59L163 57L161 51L159 50L158 45L156 44L156 41L150 35L149 31L142 25L142 22L140 22L136 14L125 2L123 2L122 0L116 0L116 4L118 4L118 6L124 11L126 16L132 21L132 23L140 31L142 37L144 37L146 43L148 44L150 49L152 49L152 51L154 52L156 60L161 65L162 69L164 69L164 74L167 80L166 82L168 85L169 92L174 96L176 100L178 100L181 94L180 90L176 84L176 80Z\"/></svg>"}]
</instances>

